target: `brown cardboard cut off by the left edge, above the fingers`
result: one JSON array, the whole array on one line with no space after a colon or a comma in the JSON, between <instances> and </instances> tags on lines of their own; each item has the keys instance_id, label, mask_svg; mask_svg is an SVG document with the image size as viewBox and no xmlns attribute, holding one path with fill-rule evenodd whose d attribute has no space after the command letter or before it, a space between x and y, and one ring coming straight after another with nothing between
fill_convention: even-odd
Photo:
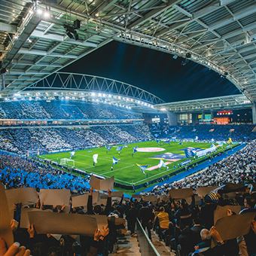
<instances>
[{"instance_id":1,"label":"brown cardboard cut off by the left edge, above the fingers","mask_svg":"<svg viewBox=\"0 0 256 256\"><path fill-rule=\"evenodd\" d=\"M14 235L11 230L11 219L5 187L0 182L0 237L5 240L8 247L14 242Z\"/></svg>"}]
</instances>

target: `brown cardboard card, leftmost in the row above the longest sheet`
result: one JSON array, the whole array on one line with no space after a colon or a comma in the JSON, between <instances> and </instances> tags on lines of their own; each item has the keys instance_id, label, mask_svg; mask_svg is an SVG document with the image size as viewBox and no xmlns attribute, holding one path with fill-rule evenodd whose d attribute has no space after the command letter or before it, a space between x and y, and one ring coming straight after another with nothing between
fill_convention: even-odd
<instances>
[{"instance_id":1,"label":"brown cardboard card, leftmost in the row above the longest sheet","mask_svg":"<svg viewBox=\"0 0 256 256\"><path fill-rule=\"evenodd\" d=\"M15 209L15 204L35 204L38 201L38 193L34 187L20 187L5 190L9 209Z\"/></svg>"}]
</instances>

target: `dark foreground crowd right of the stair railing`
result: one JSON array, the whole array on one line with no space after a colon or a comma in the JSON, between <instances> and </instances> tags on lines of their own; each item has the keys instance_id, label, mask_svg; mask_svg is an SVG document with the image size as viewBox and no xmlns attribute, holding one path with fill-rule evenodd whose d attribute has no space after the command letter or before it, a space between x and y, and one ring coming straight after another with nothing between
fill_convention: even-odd
<instances>
[{"instance_id":1,"label":"dark foreground crowd right of the stair railing","mask_svg":"<svg viewBox=\"0 0 256 256\"><path fill-rule=\"evenodd\" d=\"M223 187L217 192L210 192L196 203L195 196L190 200L158 200L157 203L142 201L133 203L126 215L133 224L134 215L142 221L142 226L151 238L152 229L160 241L175 249L178 255L218 255L237 256L255 255L256 219L245 236L223 240L215 228L214 215L218 206L227 206L224 216L236 215L232 206L241 206L239 214L254 212L256 216L256 194L248 187L236 186L236 196L228 198L233 186ZM240 192L238 192L240 191ZM166 194L168 195L168 194ZM163 197L163 194L161 195ZM223 217L224 217L223 216ZM233 225L237 225L233 223ZM133 230L133 227L130 227ZM226 227L231 228L231 227ZM230 231L232 232L232 231ZM217 246L211 248L212 242Z\"/></svg>"}]
</instances>

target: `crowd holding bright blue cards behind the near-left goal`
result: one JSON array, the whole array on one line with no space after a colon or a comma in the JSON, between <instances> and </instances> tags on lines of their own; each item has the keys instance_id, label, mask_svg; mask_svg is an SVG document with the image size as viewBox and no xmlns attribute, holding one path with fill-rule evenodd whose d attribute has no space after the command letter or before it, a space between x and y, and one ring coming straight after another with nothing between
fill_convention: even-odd
<instances>
[{"instance_id":1,"label":"crowd holding bright blue cards behind the near-left goal","mask_svg":"<svg viewBox=\"0 0 256 256\"><path fill-rule=\"evenodd\" d=\"M15 154L0 152L0 181L8 188L35 187L66 188L77 193L89 189L89 176L82 178L64 171L63 168L51 166L46 161L19 157Z\"/></svg>"}]
</instances>

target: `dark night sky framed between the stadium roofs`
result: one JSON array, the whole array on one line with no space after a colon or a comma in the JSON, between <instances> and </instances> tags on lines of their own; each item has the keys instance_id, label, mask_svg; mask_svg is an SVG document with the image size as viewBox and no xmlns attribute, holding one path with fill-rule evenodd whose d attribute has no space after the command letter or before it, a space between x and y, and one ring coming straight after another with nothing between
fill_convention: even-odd
<instances>
[{"instance_id":1,"label":"dark night sky framed between the stadium roofs","mask_svg":"<svg viewBox=\"0 0 256 256\"><path fill-rule=\"evenodd\" d=\"M168 53L112 41L62 71L123 81L166 102L239 93L218 73L192 61L181 66L181 61Z\"/></svg>"}]
</instances>

